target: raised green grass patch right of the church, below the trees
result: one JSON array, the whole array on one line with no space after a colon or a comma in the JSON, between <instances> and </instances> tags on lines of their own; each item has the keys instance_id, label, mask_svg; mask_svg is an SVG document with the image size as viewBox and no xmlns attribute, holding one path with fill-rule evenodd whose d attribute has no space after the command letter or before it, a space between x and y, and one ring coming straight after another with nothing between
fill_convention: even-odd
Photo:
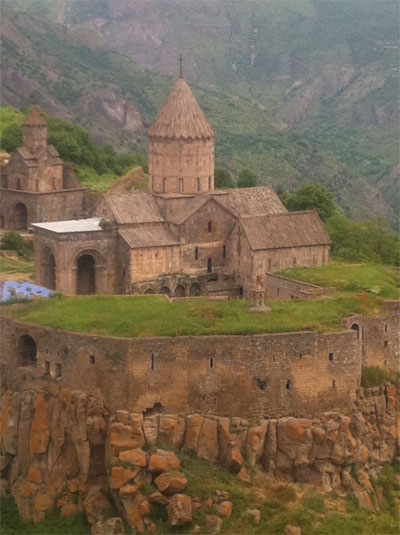
<instances>
[{"instance_id":1,"label":"raised green grass patch right of the church, below the trees","mask_svg":"<svg viewBox=\"0 0 400 535\"><path fill-rule=\"evenodd\" d=\"M317 268L285 269L279 275L344 292L368 292L390 299L400 296L399 272L381 264L335 262Z\"/></svg>"}]
</instances>

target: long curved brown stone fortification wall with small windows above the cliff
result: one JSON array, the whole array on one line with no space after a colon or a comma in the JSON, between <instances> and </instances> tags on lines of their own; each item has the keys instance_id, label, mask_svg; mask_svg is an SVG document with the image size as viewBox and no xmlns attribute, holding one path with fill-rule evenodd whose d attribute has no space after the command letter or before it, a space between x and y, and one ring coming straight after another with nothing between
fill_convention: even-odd
<instances>
[{"instance_id":1,"label":"long curved brown stone fortification wall with small windows above the cliff","mask_svg":"<svg viewBox=\"0 0 400 535\"><path fill-rule=\"evenodd\" d=\"M21 366L23 335L37 345ZM122 339L27 325L3 318L2 379L101 393L112 410L241 417L310 416L351 409L360 385L354 331L256 336Z\"/></svg>"}]
</instances>

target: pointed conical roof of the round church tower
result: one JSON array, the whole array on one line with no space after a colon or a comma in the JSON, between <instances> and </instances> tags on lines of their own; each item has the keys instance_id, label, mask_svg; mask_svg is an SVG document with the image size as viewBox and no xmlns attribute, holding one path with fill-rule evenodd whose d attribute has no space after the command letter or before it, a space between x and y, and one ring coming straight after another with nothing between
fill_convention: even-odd
<instances>
[{"instance_id":1,"label":"pointed conical roof of the round church tower","mask_svg":"<svg viewBox=\"0 0 400 535\"><path fill-rule=\"evenodd\" d=\"M148 135L166 139L214 138L214 130L183 77L176 81Z\"/></svg>"}]
</instances>

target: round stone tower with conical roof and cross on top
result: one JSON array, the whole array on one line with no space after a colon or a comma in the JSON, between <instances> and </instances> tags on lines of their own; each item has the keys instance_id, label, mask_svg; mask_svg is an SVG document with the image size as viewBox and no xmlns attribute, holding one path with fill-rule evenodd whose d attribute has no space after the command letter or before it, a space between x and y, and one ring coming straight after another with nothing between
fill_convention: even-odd
<instances>
[{"instance_id":1,"label":"round stone tower with conical roof and cross on top","mask_svg":"<svg viewBox=\"0 0 400 535\"><path fill-rule=\"evenodd\" d=\"M214 189L214 130L186 83L182 69L148 138L153 193L187 195Z\"/></svg>"}]
</instances>

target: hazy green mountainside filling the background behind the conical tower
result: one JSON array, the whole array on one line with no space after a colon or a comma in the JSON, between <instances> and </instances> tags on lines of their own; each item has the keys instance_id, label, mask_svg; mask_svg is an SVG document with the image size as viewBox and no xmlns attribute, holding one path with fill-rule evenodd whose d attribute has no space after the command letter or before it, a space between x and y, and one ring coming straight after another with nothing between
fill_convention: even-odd
<instances>
[{"instance_id":1,"label":"hazy green mountainside filling the background behind the conical tower","mask_svg":"<svg viewBox=\"0 0 400 535\"><path fill-rule=\"evenodd\" d=\"M319 181L347 215L396 223L394 3L9 4L22 11L3 9L4 103L39 104L137 151L172 87L179 46L217 132L218 166L248 167L287 191Z\"/></svg>"}]
</instances>

